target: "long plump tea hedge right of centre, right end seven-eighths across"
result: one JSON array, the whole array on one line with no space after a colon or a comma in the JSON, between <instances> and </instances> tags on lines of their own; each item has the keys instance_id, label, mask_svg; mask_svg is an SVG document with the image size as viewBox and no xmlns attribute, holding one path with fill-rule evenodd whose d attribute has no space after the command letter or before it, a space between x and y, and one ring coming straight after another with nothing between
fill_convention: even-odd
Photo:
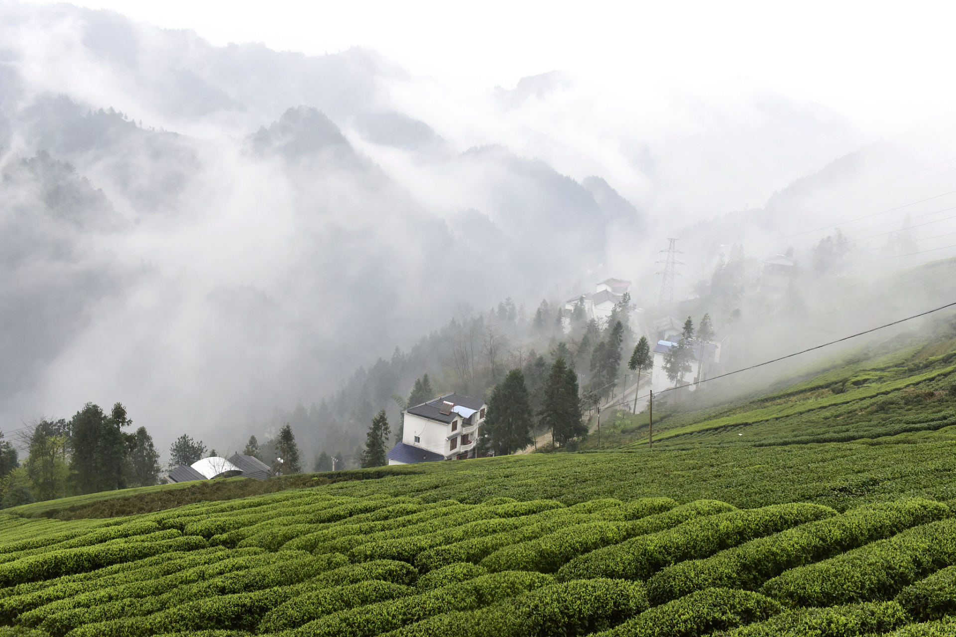
<instances>
[{"instance_id":1,"label":"long plump tea hedge right of centre, right end seven-eighths across","mask_svg":"<svg viewBox=\"0 0 956 637\"><path fill-rule=\"evenodd\" d=\"M829 507L796 502L692 518L671 529L577 557L561 567L557 578L643 580L663 566L704 558L744 541L835 515L836 511Z\"/></svg>"}]
</instances>

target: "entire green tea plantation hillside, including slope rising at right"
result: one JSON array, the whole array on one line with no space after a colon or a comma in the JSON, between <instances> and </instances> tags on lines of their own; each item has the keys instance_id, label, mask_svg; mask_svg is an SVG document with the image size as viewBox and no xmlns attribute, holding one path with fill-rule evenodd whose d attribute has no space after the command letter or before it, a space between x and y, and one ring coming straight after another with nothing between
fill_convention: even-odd
<instances>
[{"instance_id":1,"label":"entire green tea plantation hillside, including slope rising at right","mask_svg":"<svg viewBox=\"0 0 956 637\"><path fill-rule=\"evenodd\" d=\"M671 405L653 452L620 415L617 449L10 509L0 635L956 635L954 356L927 347Z\"/></svg>"}]
</instances>

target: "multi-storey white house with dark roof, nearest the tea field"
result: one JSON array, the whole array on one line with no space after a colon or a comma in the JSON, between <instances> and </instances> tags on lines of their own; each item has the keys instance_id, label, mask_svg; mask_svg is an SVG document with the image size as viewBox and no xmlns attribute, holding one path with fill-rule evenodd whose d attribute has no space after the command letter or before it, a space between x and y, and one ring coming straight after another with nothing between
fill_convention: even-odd
<instances>
[{"instance_id":1,"label":"multi-storey white house with dark roof, nearest the tea field","mask_svg":"<svg viewBox=\"0 0 956 637\"><path fill-rule=\"evenodd\" d=\"M488 405L461 393L446 393L406 409L402 442L388 452L388 464L415 464L475 457L475 441Z\"/></svg>"}]
</instances>

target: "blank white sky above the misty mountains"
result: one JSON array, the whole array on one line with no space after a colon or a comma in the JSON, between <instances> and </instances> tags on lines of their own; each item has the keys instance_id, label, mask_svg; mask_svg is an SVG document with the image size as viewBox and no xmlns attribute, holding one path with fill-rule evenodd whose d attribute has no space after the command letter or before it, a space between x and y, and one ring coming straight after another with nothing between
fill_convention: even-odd
<instances>
[{"instance_id":1,"label":"blank white sky above the misty mountains","mask_svg":"<svg viewBox=\"0 0 956 637\"><path fill-rule=\"evenodd\" d=\"M371 47L446 86L511 88L560 70L634 98L746 80L826 104L871 135L951 110L945 2L80 0L216 45L333 53Z\"/></svg>"}]
</instances>

